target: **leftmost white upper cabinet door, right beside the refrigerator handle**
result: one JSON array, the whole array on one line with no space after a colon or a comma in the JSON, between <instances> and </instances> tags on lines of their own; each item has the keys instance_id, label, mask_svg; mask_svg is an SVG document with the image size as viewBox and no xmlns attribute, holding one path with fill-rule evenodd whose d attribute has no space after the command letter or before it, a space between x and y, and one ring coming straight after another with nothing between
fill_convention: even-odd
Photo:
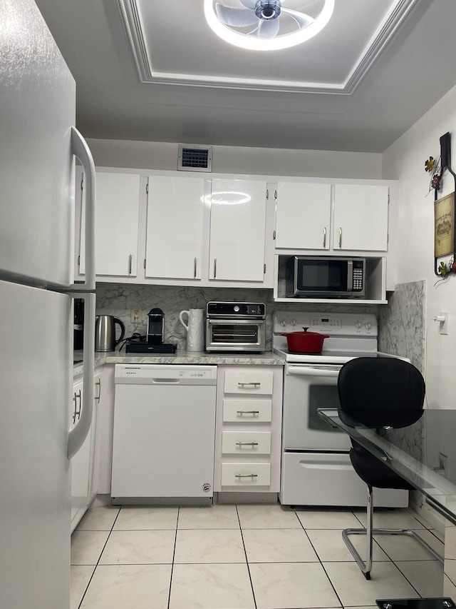
<instances>
[{"instance_id":1,"label":"leftmost white upper cabinet door, right beside the refrigerator handle","mask_svg":"<svg viewBox=\"0 0 456 609\"><path fill-rule=\"evenodd\" d=\"M84 226L84 210L82 226ZM96 173L95 275L135 277L138 274L140 176ZM85 272L84 232L81 233L80 272Z\"/></svg>"}]
</instances>

